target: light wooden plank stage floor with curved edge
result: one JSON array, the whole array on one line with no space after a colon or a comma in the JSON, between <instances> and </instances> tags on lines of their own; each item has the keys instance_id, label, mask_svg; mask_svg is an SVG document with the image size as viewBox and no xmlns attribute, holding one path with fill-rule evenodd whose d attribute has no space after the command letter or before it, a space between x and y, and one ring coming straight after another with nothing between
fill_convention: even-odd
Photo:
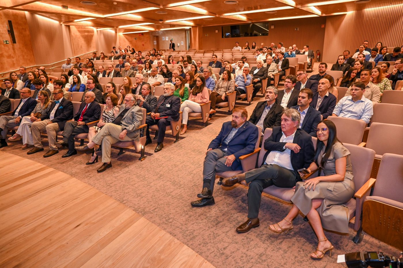
<instances>
[{"instance_id":1,"label":"light wooden plank stage floor with curved edge","mask_svg":"<svg viewBox=\"0 0 403 268\"><path fill-rule=\"evenodd\" d=\"M0 152L0 267L214 267L125 205Z\"/></svg>"}]
</instances>

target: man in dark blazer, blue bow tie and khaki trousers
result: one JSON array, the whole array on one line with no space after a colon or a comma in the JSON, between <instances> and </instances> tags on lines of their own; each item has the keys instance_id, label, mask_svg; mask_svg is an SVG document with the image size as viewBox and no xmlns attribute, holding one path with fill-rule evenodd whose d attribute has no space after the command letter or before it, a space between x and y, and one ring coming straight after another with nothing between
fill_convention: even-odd
<instances>
[{"instance_id":1,"label":"man in dark blazer, blue bow tie and khaki trousers","mask_svg":"<svg viewBox=\"0 0 403 268\"><path fill-rule=\"evenodd\" d=\"M56 147L56 133L64 130L64 124L67 120L73 118L73 103L63 97L62 89L53 90L54 102L50 105L49 113L43 114L32 123L31 131L33 138L33 147L27 155L31 155L44 150L41 141L41 132L48 134L49 150L44 157L50 157L59 153Z\"/></svg>"}]
</instances>

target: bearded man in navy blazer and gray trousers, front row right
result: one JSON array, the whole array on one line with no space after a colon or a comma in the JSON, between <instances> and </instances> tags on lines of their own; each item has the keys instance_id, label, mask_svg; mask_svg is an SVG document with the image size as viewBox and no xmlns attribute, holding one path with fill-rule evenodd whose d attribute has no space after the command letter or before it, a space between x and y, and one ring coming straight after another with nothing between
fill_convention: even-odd
<instances>
[{"instance_id":1,"label":"bearded man in navy blazer and gray trousers, front row right","mask_svg":"<svg viewBox=\"0 0 403 268\"><path fill-rule=\"evenodd\" d=\"M222 124L220 133L208 145L203 165L203 190L197 194L201 199L191 202L191 206L214 205L216 172L242 170L239 157L255 150L260 133L257 126L247 121L247 117L245 108L235 108L231 122Z\"/></svg>"}]
</instances>

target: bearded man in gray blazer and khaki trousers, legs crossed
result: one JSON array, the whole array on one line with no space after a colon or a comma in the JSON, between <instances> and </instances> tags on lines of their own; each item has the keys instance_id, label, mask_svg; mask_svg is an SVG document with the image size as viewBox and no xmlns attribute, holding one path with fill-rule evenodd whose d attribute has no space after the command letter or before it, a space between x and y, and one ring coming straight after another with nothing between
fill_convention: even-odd
<instances>
[{"instance_id":1,"label":"bearded man in gray blazer and khaki trousers, legs crossed","mask_svg":"<svg viewBox=\"0 0 403 268\"><path fill-rule=\"evenodd\" d=\"M110 148L118 141L138 141L140 131L138 128L143 120L143 111L136 105L133 94L125 96L125 104L120 106L119 114L111 123L107 123L86 145L76 147L76 150L84 153L94 153L96 144L102 144L102 166L98 172L112 167L110 161Z\"/></svg>"}]
</instances>

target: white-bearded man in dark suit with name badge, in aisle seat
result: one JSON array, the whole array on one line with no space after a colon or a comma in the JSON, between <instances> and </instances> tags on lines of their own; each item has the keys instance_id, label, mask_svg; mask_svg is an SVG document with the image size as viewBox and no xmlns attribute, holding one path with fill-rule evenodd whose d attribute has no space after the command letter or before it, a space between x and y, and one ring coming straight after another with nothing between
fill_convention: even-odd
<instances>
[{"instance_id":1,"label":"white-bearded man in dark suit with name badge, in aisle seat","mask_svg":"<svg viewBox=\"0 0 403 268\"><path fill-rule=\"evenodd\" d=\"M158 125L158 138L157 146L154 150L155 153L164 148L164 137L166 126L170 125L171 121L177 122L179 120L179 109L181 108L181 99L174 96L175 87L172 83L165 83L164 95L158 99L157 106L150 115L145 118L145 124L147 124L147 141L145 145L152 143L150 137L150 126ZM167 117L167 118L164 118Z\"/></svg>"}]
</instances>

